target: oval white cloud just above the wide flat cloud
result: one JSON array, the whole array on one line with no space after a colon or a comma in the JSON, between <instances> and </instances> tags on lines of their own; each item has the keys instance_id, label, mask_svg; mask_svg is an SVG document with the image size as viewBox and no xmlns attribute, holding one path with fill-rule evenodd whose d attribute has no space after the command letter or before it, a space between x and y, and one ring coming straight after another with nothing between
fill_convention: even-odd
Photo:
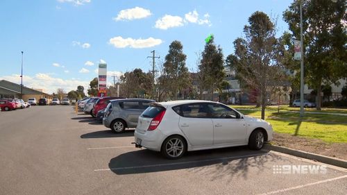
<instances>
[{"instance_id":1,"label":"oval white cloud just above the wide flat cloud","mask_svg":"<svg viewBox=\"0 0 347 195\"><path fill-rule=\"evenodd\" d=\"M152 15L150 10L146 10L144 8L139 8L139 7L135 7L135 8L131 8L131 9L127 9L127 10L121 10L117 17L114 17L113 19L115 21L119 21L119 20L133 20L133 19L142 19L145 17L149 17L150 15Z\"/></svg>"}]
</instances>

